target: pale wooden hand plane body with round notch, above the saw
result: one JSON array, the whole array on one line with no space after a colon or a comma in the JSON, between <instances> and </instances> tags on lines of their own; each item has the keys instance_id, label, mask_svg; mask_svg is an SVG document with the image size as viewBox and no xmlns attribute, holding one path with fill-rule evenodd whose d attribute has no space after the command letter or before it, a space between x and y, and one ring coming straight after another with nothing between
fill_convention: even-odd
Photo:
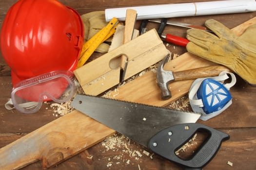
<instances>
[{"instance_id":1,"label":"pale wooden hand plane body with round notch, above the saw","mask_svg":"<svg viewBox=\"0 0 256 170\"><path fill-rule=\"evenodd\" d=\"M125 79L146 69L168 54L155 29L138 36L74 71L86 94L98 95L118 85L120 65L114 62L125 55L128 59ZM89 74L84 74L89 73Z\"/></svg>"}]
</instances>

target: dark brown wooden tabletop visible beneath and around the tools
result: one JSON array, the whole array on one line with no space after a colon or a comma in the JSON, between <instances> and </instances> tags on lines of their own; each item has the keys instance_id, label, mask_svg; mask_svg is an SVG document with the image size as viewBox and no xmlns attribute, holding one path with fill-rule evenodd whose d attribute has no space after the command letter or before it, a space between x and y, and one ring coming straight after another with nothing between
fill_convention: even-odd
<instances>
[{"instance_id":1,"label":"dark brown wooden tabletop visible beneath and around the tools","mask_svg":"<svg viewBox=\"0 0 256 170\"><path fill-rule=\"evenodd\" d=\"M9 7L17 0L0 0L0 27ZM164 4L191 2L192 0L60 0L63 4L76 9L80 15L91 11L102 11L111 7L139 6L146 4ZM193 2L210 0L193 0ZM203 26L207 19L216 19L233 28L248 19L256 17L256 12L242 14L227 14L215 16L177 17L174 21ZM46 18L47 19L47 18ZM140 21L136 23L139 28ZM149 29L158 28L158 24L149 23ZM186 36L186 29L167 26L166 33ZM170 44L168 50L182 54L183 47ZM95 53L94 56L100 54ZM12 82L10 68L0 54L0 148L18 138L38 129L59 117L53 116L52 109L43 105L35 114L22 114L17 110L6 110L5 102L10 98ZM256 169L256 87L247 85L237 77L236 85L231 89L233 104L221 115L208 121L198 120L210 127L230 135L230 139L222 146L214 159L204 170L255 170ZM186 96L185 96L186 98ZM184 108L191 111L190 107ZM223 115L226 116L223 116ZM86 128L86 127L85 127ZM76 135L76 134L74 134ZM72 137L72 136L70 136ZM200 137L199 139L200 140ZM58 141L56 141L58 142ZM193 150L191 145L187 150ZM145 154L149 152L149 155ZM143 153L144 152L144 153ZM227 162L233 163L233 166ZM41 162L35 162L24 170L40 170ZM181 170L179 166L153 154L130 139L117 134L60 163L52 170Z\"/></svg>"}]
</instances>

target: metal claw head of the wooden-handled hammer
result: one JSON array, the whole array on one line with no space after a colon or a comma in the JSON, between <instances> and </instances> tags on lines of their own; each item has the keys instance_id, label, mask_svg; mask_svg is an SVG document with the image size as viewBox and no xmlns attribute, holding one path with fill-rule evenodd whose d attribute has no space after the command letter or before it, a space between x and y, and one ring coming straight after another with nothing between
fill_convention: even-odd
<instances>
[{"instance_id":1,"label":"metal claw head of the wooden-handled hammer","mask_svg":"<svg viewBox=\"0 0 256 170\"><path fill-rule=\"evenodd\" d=\"M173 56L173 54L171 54ZM168 84L171 81L174 81L173 72L170 70L164 70L163 67L165 63L168 62L170 54L167 54L164 59L161 61L157 70L157 82L158 86L161 89L161 98L162 100L168 100L172 97L172 93L168 87Z\"/></svg>"}]
</instances>

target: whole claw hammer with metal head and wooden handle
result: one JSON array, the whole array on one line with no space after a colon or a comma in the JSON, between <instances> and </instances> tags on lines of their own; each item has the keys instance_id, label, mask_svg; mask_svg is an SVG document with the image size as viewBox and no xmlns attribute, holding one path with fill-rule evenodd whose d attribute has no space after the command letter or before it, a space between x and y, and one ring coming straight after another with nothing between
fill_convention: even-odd
<instances>
[{"instance_id":1,"label":"whole claw hammer with metal head and wooden handle","mask_svg":"<svg viewBox=\"0 0 256 170\"><path fill-rule=\"evenodd\" d=\"M172 54L173 55L173 54ZM167 63L170 54L167 54L157 70L157 83L161 89L162 100L168 100L172 97L172 93L168 87L171 82L180 80L191 80L203 77L213 77L218 76L221 71L231 71L229 68L224 66L210 66L202 68L194 68L183 71L173 72L171 70L164 70L163 67Z\"/></svg>"}]
</instances>

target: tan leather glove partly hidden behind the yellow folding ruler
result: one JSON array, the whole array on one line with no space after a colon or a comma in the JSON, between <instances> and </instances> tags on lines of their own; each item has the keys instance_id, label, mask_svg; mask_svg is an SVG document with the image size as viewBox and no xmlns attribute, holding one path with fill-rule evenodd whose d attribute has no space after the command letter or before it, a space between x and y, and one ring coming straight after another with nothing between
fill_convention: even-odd
<instances>
[{"instance_id":1,"label":"tan leather glove partly hidden behind the yellow folding ruler","mask_svg":"<svg viewBox=\"0 0 256 170\"><path fill-rule=\"evenodd\" d=\"M81 19L84 24L84 42L88 41L91 37L97 34L108 23L105 19L104 11L94 11L81 15ZM111 41L108 39L106 41ZM97 52L108 52L109 45L107 43L101 43L96 49Z\"/></svg>"}]
</instances>

